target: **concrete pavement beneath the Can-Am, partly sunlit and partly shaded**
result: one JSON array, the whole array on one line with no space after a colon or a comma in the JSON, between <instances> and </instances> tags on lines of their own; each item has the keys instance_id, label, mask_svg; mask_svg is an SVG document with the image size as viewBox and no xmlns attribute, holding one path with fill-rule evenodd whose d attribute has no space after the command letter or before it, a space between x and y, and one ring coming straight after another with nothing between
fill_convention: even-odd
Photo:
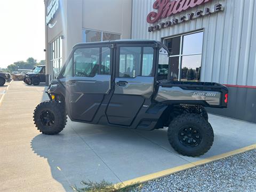
<instances>
[{"instance_id":1,"label":"concrete pavement beneath the Can-Am, partly sunlit and partly shaded","mask_svg":"<svg viewBox=\"0 0 256 192\"><path fill-rule=\"evenodd\" d=\"M166 129L138 131L68 121L40 134L33 110L45 86L12 82L0 106L0 191L72 191L81 180L113 183L170 169L256 143L256 125L210 115L213 147L201 157L177 154Z\"/></svg>"}]
</instances>

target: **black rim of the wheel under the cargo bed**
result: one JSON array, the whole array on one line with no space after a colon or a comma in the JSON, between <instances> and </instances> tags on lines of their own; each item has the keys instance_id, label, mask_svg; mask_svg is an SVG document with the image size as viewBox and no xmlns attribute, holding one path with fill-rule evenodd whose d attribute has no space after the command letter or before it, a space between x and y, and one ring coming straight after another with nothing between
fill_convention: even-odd
<instances>
[{"instance_id":1,"label":"black rim of the wheel under the cargo bed","mask_svg":"<svg viewBox=\"0 0 256 192\"><path fill-rule=\"evenodd\" d=\"M179 141L186 147L196 147L202 141L202 136L194 126L182 127L179 131Z\"/></svg>"}]
</instances>

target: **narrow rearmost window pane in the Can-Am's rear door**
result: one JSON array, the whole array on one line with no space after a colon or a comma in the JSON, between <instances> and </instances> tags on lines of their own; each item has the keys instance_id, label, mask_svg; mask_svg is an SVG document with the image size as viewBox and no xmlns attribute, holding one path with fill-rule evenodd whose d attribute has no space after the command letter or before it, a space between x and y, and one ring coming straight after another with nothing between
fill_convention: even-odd
<instances>
[{"instance_id":1,"label":"narrow rearmost window pane in the Can-Am's rear door","mask_svg":"<svg viewBox=\"0 0 256 192\"><path fill-rule=\"evenodd\" d=\"M143 47L142 76L152 76L154 49Z\"/></svg>"}]
</instances>

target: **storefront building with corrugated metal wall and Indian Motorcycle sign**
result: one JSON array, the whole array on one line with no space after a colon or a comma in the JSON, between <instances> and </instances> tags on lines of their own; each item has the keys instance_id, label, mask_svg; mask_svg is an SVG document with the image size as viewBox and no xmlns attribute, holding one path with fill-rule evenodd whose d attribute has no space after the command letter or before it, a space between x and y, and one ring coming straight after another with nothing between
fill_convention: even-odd
<instances>
[{"instance_id":1,"label":"storefront building with corrugated metal wall and Indian Motorcycle sign","mask_svg":"<svg viewBox=\"0 0 256 192\"><path fill-rule=\"evenodd\" d=\"M75 43L154 39L170 51L169 66L161 69L170 80L225 84L228 108L207 110L256 123L255 1L52 0L45 1L47 17L51 2L59 8L46 25L49 79Z\"/></svg>"}]
</instances>

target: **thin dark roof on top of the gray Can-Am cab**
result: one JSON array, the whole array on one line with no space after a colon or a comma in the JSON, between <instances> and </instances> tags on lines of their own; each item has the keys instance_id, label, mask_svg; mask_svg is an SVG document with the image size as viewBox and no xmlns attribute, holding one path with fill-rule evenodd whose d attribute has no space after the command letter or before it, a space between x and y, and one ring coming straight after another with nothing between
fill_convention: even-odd
<instances>
[{"instance_id":1,"label":"thin dark roof on top of the gray Can-Am cab","mask_svg":"<svg viewBox=\"0 0 256 192\"><path fill-rule=\"evenodd\" d=\"M102 42L90 42L90 43L77 43L73 46L76 47L76 46L81 46L81 45L95 45L95 44L122 44L122 43L143 43L143 44L159 44L163 47L166 47L162 42L159 42L159 41L155 41L155 40L147 40L147 39L120 39L120 40L115 40L115 41L102 41ZM166 47L167 48L167 47Z\"/></svg>"}]
</instances>

